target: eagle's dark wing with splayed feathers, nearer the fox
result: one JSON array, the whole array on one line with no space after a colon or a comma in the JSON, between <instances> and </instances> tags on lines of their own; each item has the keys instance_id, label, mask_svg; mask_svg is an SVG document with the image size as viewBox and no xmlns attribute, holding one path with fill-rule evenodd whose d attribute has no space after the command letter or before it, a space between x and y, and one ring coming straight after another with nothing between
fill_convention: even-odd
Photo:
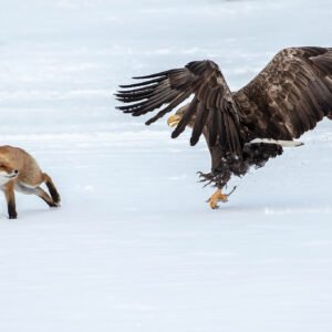
<instances>
[{"instance_id":1,"label":"eagle's dark wing with splayed feathers, nearer the fox","mask_svg":"<svg viewBox=\"0 0 332 332\"><path fill-rule=\"evenodd\" d=\"M175 138L183 133L195 115L191 145L198 142L205 128L209 146L219 144L225 155L230 153L241 156L242 138L237 105L216 63L195 61L183 69L134 79L146 81L121 85L125 90L116 93L117 100L131 104L118 106L118 110L139 116L168 104L146 122L149 125L194 94L172 137Z\"/></svg>"}]
</instances>

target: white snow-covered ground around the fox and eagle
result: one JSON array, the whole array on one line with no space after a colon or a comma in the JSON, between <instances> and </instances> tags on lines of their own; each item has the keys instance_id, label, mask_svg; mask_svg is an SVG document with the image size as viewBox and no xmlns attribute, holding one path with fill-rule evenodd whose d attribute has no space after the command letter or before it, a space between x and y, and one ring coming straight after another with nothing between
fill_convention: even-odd
<instances>
[{"instance_id":1,"label":"white snow-covered ground around the fox and eagle","mask_svg":"<svg viewBox=\"0 0 332 332\"><path fill-rule=\"evenodd\" d=\"M9 220L1 197L0 331L331 331L332 123L212 211L205 144L112 95L207 58L237 90L331 31L330 0L3 1L0 144L32 153L63 203L17 195Z\"/></svg>"}]
</instances>

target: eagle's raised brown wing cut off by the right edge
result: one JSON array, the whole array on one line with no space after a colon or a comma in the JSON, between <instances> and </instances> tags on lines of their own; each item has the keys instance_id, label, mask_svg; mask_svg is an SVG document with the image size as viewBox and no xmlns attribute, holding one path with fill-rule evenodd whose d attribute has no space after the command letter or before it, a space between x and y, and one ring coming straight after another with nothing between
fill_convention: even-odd
<instances>
[{"instance_id":1,"label":"eagle's raised brown wing cut off by the right edge","mask_svg":"<svg viewBox=\"0 0 332 332\"><path fill-rule=\"evenodd\" d=\"M253 136L298 138L332 113L332 49L282 50L234 98Z\"/></svg>"}]
</instances>

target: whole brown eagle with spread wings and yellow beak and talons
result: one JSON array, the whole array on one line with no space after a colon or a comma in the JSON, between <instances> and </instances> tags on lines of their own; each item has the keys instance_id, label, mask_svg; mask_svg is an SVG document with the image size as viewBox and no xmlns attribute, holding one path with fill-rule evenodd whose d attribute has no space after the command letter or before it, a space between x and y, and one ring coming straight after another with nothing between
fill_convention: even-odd
<instances>
[{"instance_id":1,"label":"whole brown eagle with spread wings and yellow beak and talons","mask_svg":"<svg viewBox=\"0 0 332 332\"><path fill-rule=\"evenodd\" d=\"M194 98L173 116L177 137L193 127L190 144L204 134L211 155L211 173L203 178L218 187L210 206L227 197L220 189L231 175L261 167L282 154L282 145L312 129L324 116L332 118L332 49L292 48L279 52L245 87L230 92L218 65L196 61L184 69L137 77L148 81L120 91L124 113L146 114L167 104L151 124L191 94ZM137 103L136 103L137 102ZM175 118L176 117L176 118ZM286 144L288 145L288 144Z\"/></svg>"}]
</instances>

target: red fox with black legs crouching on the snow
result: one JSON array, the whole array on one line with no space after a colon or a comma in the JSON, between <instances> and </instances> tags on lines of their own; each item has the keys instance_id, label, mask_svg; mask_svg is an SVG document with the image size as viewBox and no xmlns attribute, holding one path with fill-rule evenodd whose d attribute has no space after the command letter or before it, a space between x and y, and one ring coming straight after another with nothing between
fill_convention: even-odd
<instances>
[{"instance_id":1,"label":"red fox with black legs crouching on the snow","mask_svg":"<svg viewBox=\"0 0 332 332\"><path fill-rule=\"evenodd\" d=\"M45 183L50 195L40 185ZM9 219L17 219L14 190L34 194L50 207L60 206L60 195L46 173L42 173L34 158L25 151L9 145L0 146L0 189L4 193Z\"/></svg>"}]
</instances>

